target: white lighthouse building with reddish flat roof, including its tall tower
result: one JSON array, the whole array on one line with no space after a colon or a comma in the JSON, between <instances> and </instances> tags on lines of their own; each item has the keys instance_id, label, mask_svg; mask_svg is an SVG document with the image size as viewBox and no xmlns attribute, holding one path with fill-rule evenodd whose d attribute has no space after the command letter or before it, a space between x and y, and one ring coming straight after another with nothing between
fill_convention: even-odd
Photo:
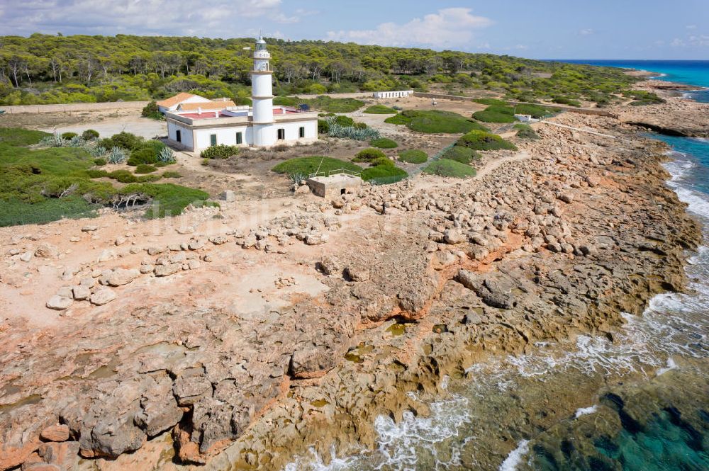
<instances>
[{"instance_id":1,"label":"white lighthouse building with reddish flat roof, including its tall tower","mask_svg":"<svg viewBox=\"0 0 709 471\"><path fill-rule=\"evenodd\" d=\"M273 105L270 58L266 42L259 38L251 71L252 107L214 109L213 103L227 102L211 101L209 107L190 103L183 107L189 109L169 111L165 114L169 143L201 152L218 144L272 147L318 140L318 113Z\"/></svg>"}]
</instances>

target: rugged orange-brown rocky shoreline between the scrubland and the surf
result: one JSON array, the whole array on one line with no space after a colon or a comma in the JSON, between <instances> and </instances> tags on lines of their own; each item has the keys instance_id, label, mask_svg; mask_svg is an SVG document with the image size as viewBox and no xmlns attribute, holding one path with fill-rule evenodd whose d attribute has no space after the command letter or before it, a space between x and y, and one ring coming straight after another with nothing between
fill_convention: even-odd
<instances>
[{"instance_id":1,"label":"rugged orange-brown rocky shoreline between the scrubland and the surf","mask_svg":"<svg viewBox=\"0 0 709 471\"><path fill-rule=\"evenodd\" d=\"M618 113L657 108L691 123L709 112L667 100ZM123 259L152 271L96 273L97 286L134 297L164 290L150 302L107 304L54 336L7 322L0 358L13 367L0 385L15 400L0 405L11 419L0 470L278 470L308 448L374 446L374 417L426 414L408 393L437 397L446 375L463 378L486 357L581 333L612 339L621 312L684 288L700 232L664 186L664 144L612 118L553 121L567 127L541 123L541 140L519 142L518 154L488 153L503 163L481 178L365 187L251 231L178 230L184 247L160 241ZM313 289L252 309L223 302L227 278L279 256L294 273L279 290L305 284L298 273ZM210 273L155 284L193 270ZM38 359L45 351L55 353Z\"/></svg>"}]
</instances>

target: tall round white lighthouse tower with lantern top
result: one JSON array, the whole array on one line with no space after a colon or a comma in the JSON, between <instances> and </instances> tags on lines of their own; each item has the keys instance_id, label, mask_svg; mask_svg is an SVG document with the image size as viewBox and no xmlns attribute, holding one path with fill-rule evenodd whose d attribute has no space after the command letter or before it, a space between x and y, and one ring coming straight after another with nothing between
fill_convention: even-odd
<instances>
[{"instance_id":1,"label":"tall round white lighthouse tower with lantern top","mask_svg":"<svg viewBox=\"0 0 709 471\"><path fill-rule=\"evenodd\" d=\"M254 145L276 144L273 119L273 88L271 55L266 50L266 41L259 36L254 51L254 69L251 71L251 100L253 102Z\"/></svg>"}]
</instances>

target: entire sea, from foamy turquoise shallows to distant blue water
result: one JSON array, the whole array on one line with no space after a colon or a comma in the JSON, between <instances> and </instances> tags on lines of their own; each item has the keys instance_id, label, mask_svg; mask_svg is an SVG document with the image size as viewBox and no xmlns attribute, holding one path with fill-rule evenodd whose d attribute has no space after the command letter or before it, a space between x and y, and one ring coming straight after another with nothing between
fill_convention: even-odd
<instances>
[{"instance_id":1,"label":"entire sea, from foamy turquoise shallows to distant blue water","mask_svg":"<svg viewBox=\"0 0 709 471\"><path fill-rule=\"evenodd\" d=\"M709 62L576 62L709 87ZM311 451L285 471L709 470L709 140L652 137L671 147L667 185L703 224L686 293L623 314L613 339L582 335L474 365L465 380L445 379L430 415L377 417L374 450Z\"/></svg>"}]
</instances>

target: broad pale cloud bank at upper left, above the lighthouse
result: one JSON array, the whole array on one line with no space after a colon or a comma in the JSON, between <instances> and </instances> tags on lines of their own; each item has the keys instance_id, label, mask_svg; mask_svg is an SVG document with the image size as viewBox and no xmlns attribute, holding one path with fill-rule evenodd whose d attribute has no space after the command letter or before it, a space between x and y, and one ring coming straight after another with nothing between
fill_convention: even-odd
<instances>
[{"instance_id":1,"label":"broad pale cloud bank at upper left, above the lighthouse","mask_svg":"<svg viewBox=\"0 0 709 471\"><path fill-rule=\"evenodd\" d=\"M282 4L282 0L30 0L1 8L0 21L6 28L4 34L61 31L235 37L257 33L259 21L296 23L310 14L285 12Z\"/></svg>"}]
</instances>

